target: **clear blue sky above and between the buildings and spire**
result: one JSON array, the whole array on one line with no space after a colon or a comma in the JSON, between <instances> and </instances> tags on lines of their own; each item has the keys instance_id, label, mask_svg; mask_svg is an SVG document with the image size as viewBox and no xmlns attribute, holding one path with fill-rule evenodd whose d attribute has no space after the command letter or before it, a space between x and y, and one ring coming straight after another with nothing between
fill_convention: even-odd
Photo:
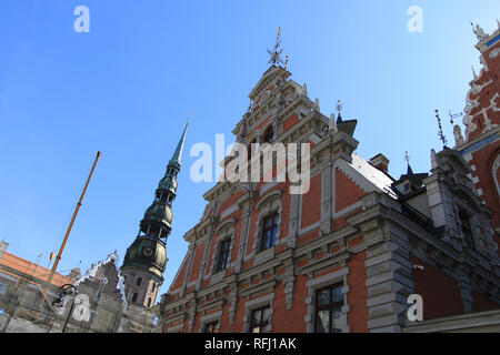
<instances>
[{"instance_id":1,"label":"clear blue sky above and between the buildings and spire","mask_svg":"<svg viewBox=\"0 0 500 355\"><path fill-rule=\"evenodd\" d=\"M80 4L89 33L73 30ZM413 4L422 33L407 30ZM434 109L453 142L447 112L463 110L479 69L470 21L491 32L499 14L498 0L2 0L0 240L47 266L100 150L59 270L81 261L84 272L114 250L121 263L192 111L163 293L213 185L190 180L189 149L217 133L233 141L278 27L292 79L327 115L341 99L359 120L358 153L382 152L399 176L407 150L413 171L429 171Z\"/></svg>"}]
</instances>

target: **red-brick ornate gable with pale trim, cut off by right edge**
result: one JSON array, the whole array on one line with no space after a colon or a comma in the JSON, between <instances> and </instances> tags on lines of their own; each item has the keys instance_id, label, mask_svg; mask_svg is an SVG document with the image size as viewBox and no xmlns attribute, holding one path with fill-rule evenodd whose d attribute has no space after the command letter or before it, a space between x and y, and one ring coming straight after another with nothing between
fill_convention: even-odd
<instances>
[{"instance_id":1,"label":"red-brick ornate gable with pale trim, cut off by right edge","mask_svg":"<svg viewBox=\"0 0 500 355\"><path fill-rule=\"evenodd\" d=\"M500 235L500 23L492 34L484 33L479 26L474 32L482 68L479 75L474 71L467 93L463 118L467 139L457 125L454 149L469 163L478 195L494 211L491 225Z\"/></svg>"}]
</instances>

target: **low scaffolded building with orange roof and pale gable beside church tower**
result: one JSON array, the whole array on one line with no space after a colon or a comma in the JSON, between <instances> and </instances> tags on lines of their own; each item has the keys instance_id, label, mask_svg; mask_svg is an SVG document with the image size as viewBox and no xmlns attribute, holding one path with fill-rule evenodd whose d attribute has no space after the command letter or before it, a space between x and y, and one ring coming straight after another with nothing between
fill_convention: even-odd
<instances>
[{"instance_id":1,"label":"low scaffolded building with orange roof and pale gable beside church tower","mask_svg":"<svg viewBox=\"0 0 500 355\"><path fill-rule=\"evenodd\" d=\"M151 333L156 331L153 310L124 301L123 277L118 255L92 264L80 277L69 276L4 252L0 244L0 333ZM70 277L71 276L71 277ZM78 293L60 297L61 286L73 285ZM39 306L44 287L46 302Z\"/></svg>"}]
</instances>

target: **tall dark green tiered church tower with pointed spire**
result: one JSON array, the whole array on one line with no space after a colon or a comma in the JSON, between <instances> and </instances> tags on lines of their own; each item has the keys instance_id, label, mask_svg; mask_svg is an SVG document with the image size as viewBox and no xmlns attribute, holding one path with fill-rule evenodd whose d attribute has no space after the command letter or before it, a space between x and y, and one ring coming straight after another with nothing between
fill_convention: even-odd
<instances>
[{"instance_id":1,"label":"tall dark green tiered church tower with pointed spire","mask_svg":"<svg viewBox=\"0 0 500 355\"><path fill-rule=\"evenodd\" d=\"M129 304L151 307L163 283L167 265L167 239L171 232L172 202L176 199L177 176L181 169L184 132L177 145L167 172L160 180L154 201L146 210L139 234L127 250L121 273L126 278L126 297Z\"/></svg>"}]
</instances>

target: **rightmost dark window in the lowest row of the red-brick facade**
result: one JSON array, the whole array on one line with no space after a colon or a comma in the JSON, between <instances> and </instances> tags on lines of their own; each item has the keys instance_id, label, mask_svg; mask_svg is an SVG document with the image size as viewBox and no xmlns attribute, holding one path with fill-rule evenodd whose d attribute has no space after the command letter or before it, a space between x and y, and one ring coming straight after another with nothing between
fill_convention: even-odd
<instances>
[{"instance_id":1,"label":"rightmost dark window in the lowest row of the red-brick facade","mask_svg":"<svg viewBox=\"0 0 500 355\"><path fill-rule=\"evenodd\" d=\"M331 285L316 293L316 332L341 333L339 318L343 305L342 284Z\"/></svg>"}]
</instances>

